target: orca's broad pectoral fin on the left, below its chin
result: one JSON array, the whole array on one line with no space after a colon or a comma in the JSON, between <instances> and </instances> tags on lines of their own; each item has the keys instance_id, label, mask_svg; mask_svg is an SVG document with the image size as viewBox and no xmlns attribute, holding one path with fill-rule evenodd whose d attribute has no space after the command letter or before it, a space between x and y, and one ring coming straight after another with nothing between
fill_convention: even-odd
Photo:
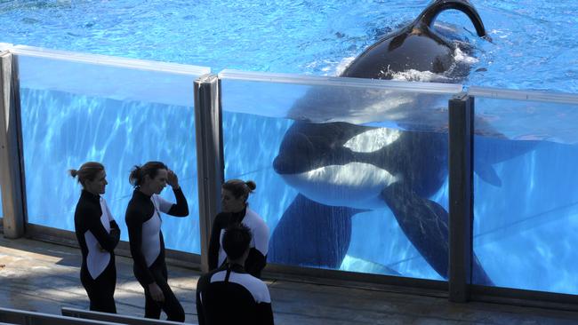
<instances>
[{"instance_id":1,"label":"orca's broad pectoral fin on the left, below its chin","mask_svg":"<svg viewBox=\"0 0 578 325\"><path fill-rule=\"evenodd\" d=\"M338 268L349 249L351 217L360 210L295 197L269 242L271 262Z\"/></svg>"}]
</instances>

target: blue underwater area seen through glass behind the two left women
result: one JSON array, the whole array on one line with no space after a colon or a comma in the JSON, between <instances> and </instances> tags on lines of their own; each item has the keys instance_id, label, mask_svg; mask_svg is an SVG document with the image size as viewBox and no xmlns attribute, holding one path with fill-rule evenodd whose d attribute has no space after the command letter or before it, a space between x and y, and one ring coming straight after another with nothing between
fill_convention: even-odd
<instances>
[{"instance_id":1,"label":"blue underwater area seen through glass behind the two left women","mask_svg":"<svg viewBox=\"0 0 578 325\"><path fill-rule=\"evenodd\" d=\"M128 239L124 210L133 165L165 162L181 180L189 218L165 218L167 248L198 253L197 157L192 107L118 101L59 91L21 89L28 222L74 229L81 187L67 170L87 161L105 165L104 197ZM163 195L174 202L173 193Z\"/></svg>"}]
</instances>

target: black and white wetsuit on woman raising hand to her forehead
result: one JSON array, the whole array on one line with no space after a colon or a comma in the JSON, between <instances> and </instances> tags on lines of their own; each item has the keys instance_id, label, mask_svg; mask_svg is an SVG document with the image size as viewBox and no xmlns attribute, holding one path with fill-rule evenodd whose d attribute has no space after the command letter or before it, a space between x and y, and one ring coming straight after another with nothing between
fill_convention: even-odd
<instances>
[{"instance_id":1,"label":"black and white wetsuit on woman raising hand to her forehead","mask_svg":"<svg viewBox=\"0 0 578 325\"><path fill-rule=\"evenodd\" d=\"M126 226L134 260L134 276L145 290L145 317L159 319L161 309L168 321L185 321L185 312L167 283L165 241L161 232L160 212L175 217L189 215L189 206L181 188L173 189L177 203L168 202L157 194L148 196L137 188L126 207ZM165 301L157 303L150 296L149 284L157 282Z\"/></svg>"}]
</instances>

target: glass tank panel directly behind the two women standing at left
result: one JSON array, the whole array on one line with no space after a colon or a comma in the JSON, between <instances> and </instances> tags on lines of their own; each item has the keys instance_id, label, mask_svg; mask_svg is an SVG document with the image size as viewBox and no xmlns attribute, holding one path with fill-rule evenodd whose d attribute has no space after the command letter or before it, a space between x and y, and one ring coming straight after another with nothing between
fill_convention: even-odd
<instances>
[{"instance_id":1,"label":"glass tank panel directly behind the two women standing at left","mask_svg":"<svg viewBox=\"0 0 578 325\"><path fill-rule=\"evenodd\" d=\"M206 67L17 46L28 222L74 230L81 186L68 175L105 165L105 199L122 239L135 164L174 170L188 218L163 218L167 248L200 252L193 83ZM162 194L174 202L172 191ZM168 235L170 234L170 235Z\"/></svg>"}]
</instances>

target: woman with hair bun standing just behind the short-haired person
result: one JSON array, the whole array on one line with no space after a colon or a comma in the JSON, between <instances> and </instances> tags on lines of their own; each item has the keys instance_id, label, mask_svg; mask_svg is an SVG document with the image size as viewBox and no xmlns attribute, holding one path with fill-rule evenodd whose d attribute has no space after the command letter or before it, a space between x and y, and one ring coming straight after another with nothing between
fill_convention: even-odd
<instances>
[{"instance_id":1,"label":"woman with hair bun standing just behind the short-haired person","mask_svg":"<svg viewBox=\"0 0 578 325\"><path fill-rule=\"evenodd\" d=\"M245 262L245 271L261 278L261 270L267 265L269 250L269 227L255 211L247 207L249 194L257 186L253 180L229 179L221 186L221 207L214 221L209 241L209 270L225 263L227 255L222 249L224 230L231 224L242 223L251 230L251 250Z\"/></svg>"}]
</instances>

